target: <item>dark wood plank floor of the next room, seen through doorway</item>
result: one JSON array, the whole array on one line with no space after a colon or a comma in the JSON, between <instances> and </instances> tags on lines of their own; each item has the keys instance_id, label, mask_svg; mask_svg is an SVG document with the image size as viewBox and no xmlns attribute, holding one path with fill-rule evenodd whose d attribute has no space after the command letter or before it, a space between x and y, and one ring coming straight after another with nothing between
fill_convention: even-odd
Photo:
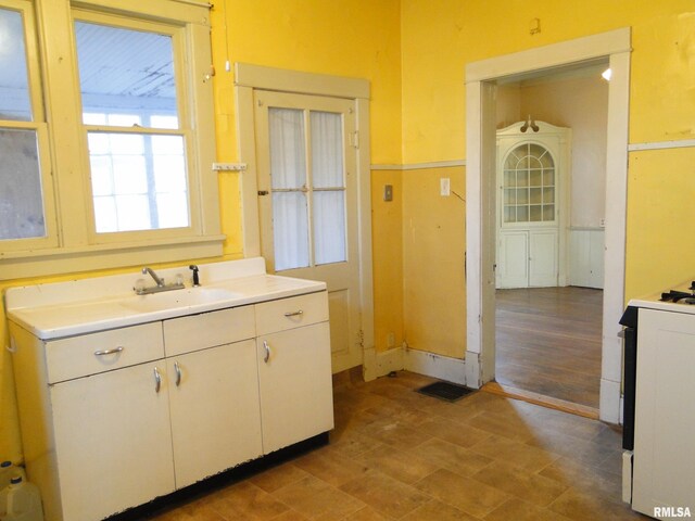
<instances>
[{"instance_id":1,"label":"dark wood plank floor of the next room, seen through doorway","mask_svg":"<svg viewBox=\"0 0 695 521\"><path fill-rule=\"evenodd\" d=\"M497 290L496 381L598 408L602 290Z\"/></svg>"}]
</instances>

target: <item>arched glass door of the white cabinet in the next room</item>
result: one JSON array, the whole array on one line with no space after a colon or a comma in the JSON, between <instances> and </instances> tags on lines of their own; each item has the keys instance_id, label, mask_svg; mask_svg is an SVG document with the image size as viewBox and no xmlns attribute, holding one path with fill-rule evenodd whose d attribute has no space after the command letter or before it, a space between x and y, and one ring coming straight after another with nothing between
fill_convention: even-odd
<instances>
[{"instance_id":1,"label":"arched glass door of the white cabinet in the next room","mask_svg":"<svg viewBox=\"0 0 695 521\"><path fill-rule=\"evenodd\" d=\"M556 171L551 152L538 143L514 148L504 160L502 223L554 223Z\"/></svg>"}]
</instances>

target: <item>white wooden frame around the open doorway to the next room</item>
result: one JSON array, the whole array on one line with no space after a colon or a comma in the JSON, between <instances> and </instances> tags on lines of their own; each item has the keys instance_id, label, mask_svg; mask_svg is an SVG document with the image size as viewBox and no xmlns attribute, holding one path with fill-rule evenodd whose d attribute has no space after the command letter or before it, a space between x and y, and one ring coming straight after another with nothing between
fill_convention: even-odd
<instances>
[{"instance_id":1,"label":"white wooden frame around the open doorway to the next room","mask_svg":"<svg viewBox=\"0 0 695 521\"><path fill-rule=\"evenodd\" d=\"M599 414L620 420L621 341L619 318L624 295L624 243L630 72L630 29L617 29L513 55L471 63L466 68L467 97L467 352L469 385L495 376L494 232L495 97L497 81L594 60L608 60L609 84L606 157L605 288L602 317Z\"/></svg>"}]
</instances>

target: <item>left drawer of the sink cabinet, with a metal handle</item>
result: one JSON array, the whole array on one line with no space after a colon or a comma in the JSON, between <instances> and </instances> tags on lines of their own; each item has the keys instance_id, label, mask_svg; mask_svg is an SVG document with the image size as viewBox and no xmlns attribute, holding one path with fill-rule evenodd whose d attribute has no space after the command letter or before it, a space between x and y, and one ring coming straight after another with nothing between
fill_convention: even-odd
<instances>
[{"instance_id":1,"label":"left drawer of the sink cabinet, with a metal handle","mask_svg":"<svg viewBox=\"0 0 695 521\"><path fill-rule=\"evenodd\" d=\"M162 322L81 334L46 343L48 383L164 357Z\"/></svg>"}]
</instances>

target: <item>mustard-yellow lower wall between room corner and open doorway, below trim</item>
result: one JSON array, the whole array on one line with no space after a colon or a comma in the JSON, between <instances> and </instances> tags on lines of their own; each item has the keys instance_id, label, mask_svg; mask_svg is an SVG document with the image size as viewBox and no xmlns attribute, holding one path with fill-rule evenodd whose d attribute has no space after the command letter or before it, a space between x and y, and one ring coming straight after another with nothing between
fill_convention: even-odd
<instances>
[{"instance_id":1,"label":"mustard-yellow lower wall between room corner and open doorway, below trim","mask_svg":"<svg viewBox=\"0 0 695 521\"><path fill-rule=\"evenodd\" d=\"M448 178L452 194L440 195ZM466 351L464 167L403 171L403 293L408 347L462 358ZM379 281L380 283L380 281Z\"/></svg>"}]
</instances>

